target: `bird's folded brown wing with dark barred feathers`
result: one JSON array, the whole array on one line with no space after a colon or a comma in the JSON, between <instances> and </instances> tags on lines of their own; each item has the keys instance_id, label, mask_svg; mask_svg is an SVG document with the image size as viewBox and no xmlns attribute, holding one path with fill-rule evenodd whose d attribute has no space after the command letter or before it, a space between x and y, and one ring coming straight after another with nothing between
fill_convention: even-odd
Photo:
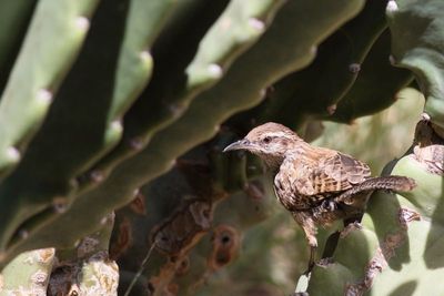
<instances>
[{"instance_id":1,"label":"bird's folded brown wing with dark barred feathers","mask_svg":"<svg viewBox=\"0 0 444 296\"><path fill-rule=\"evenodd\" d=\"M305 162L300 157L285 160L281 172L294 171L291 186L301 195L322 195L351 188L371 174L369 166L340 152L320 153ZM297 162L297 164L296 164ZM284 171L282 171L284 170Z\"/></svg>"}]
</instances>

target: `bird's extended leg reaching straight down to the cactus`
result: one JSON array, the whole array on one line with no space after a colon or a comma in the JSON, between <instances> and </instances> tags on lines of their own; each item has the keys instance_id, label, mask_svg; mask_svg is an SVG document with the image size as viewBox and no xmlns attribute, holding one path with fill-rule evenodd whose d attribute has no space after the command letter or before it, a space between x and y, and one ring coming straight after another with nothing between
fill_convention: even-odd
<instances>
[{"instance_id":1,"label":"bird's extended leg reaching straight down to the cactus","mask_svg":"<svg viewBox=\"0 0 444 296\"><path fill-rule=\"evenodd\" d=\"M309 212L302 212L302 211L293 212L293 217L297 222L297 224L301 225L302 229L305 233L306 241L309 242L310 259L307 268L304 272L304 275L309 275L312 272L315 264L315 255L317 249L317 239L316 239L317 227L314 224L312 215Z\"/></svg>"}]
</instances>

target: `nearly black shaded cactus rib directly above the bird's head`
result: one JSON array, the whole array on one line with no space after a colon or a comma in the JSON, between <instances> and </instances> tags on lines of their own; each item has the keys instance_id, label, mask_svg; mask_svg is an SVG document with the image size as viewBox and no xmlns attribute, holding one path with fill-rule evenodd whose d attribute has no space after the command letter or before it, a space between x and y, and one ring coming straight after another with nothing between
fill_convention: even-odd
<instances>
[{"instance_id":1,"label":"nearly black shaded cactus rib directly above the bird's head","mask_svg":"<svg viewBox=\"0 0 444 296\"><path fill-rule=\"evenodd\" d=\"M273 85L270 100L256 109L258 122L297 126L306 116L326 116L360 76L362 62L386 28L385 2L367 1L354 19L321 43L316 59Z\"/></svg>"}]
</instances>

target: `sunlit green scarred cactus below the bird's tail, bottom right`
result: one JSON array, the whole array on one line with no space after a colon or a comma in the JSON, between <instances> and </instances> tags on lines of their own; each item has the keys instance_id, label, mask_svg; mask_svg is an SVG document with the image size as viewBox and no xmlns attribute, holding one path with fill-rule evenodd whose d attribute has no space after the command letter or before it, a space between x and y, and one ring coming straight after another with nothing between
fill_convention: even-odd
<instances>
[{"instance_id":1,"label":"sunlit green scarred cactus below the bird's tail, bottom right","mask_svg":"<svg viewBox=\"0 0 444 296\"><path fill-rule=\"evenodd\" d=\"M411 154L401 159L391 174L413 177L417 187L403 194L373 194L362 228L343 235L332 258L334 264L313 271L310 295L320 295L329 285L337 295L444 293L433 284L444 276L444 262L437 251L444 242L442 177L420 167ZM339 271L332 268L335 265L347 269L350 276L339 276Z\"/></svg>"}]
</instances>

